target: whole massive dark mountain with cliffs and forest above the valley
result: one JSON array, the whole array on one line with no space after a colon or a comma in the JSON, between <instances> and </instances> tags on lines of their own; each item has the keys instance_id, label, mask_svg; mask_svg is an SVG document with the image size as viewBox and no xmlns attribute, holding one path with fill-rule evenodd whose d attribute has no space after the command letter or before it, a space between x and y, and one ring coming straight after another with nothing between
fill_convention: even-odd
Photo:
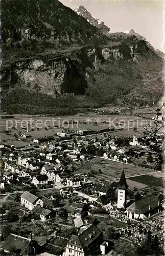
<instances>
[{"instance_id":1,"label":"whole massive dark mountain with cliffs and forest above the valley","mask_svg":"<svg viewBox=\"0 0 165 256\"><path fill-rule=\"evenodd\" d=\"M93 26L57 0L2 0L1 13L3 111L73 114L160 99L163 59L146 40L106 35L98 19Z\"/></svg>"}]
</instances>

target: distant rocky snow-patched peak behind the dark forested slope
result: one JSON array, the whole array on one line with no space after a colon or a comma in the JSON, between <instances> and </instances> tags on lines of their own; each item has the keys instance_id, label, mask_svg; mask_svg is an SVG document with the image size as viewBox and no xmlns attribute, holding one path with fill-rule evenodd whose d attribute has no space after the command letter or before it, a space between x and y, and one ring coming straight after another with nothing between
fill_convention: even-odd
<instances>
[{"instance_id":1,"label":"distant rocky snow-patched peak behind the dark forested slope","mask_svg":"<svg viewBox=\"0 0 165 256\"><path fill-rule=\"evenodd\" d=\"M85 18L87 20L88 23L90 23L91 25L97 27L99 30L101 30L101 32L103 34L105 34L106 36L108 36L110 34L110 29L104 24L104 22L102 22L100 19L92 16L86 9L84 6L79 6L79 8L75 9L75 12L82 16L83 18Z\"/></svg>"}]
</instances>

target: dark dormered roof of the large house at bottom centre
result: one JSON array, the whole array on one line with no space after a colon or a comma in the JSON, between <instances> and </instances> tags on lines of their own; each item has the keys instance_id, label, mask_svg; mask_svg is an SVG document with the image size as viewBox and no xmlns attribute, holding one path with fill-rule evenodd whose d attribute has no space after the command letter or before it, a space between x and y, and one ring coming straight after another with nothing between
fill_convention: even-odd
<instances>
[{"instance_id":1,"label":"dark dormered roof of the large house at bottom centre","mask_svg":"<svg viewBox=\"0 0 165 256\"><path fill-rule=\"evenodd\" d=\"M72 235L69 245L82 247L85 252L90 247L90 244L95 241L101 235L101 233L102 232L94 225L89 226L85 230L80 229L77 236Z\"/></svg>"}]
</instances>

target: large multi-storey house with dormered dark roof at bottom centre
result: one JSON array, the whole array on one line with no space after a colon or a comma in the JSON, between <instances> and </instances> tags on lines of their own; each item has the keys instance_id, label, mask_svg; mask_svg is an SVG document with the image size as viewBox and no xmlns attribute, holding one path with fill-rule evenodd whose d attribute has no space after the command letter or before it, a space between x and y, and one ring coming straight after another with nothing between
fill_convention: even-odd
<instances>
[{"instance_id":1,"label":"large multi-storey house with dormered dark roof at bottom centre","mask_svg":"<svg viewBox=\"0 0 165 256\"><path fill-rule=\"evenodd\" d=\"M62 256L97 255L102 242L102 232L96 226L82 227L76 235L72 234Z\"/></svg>"}]
</instances>

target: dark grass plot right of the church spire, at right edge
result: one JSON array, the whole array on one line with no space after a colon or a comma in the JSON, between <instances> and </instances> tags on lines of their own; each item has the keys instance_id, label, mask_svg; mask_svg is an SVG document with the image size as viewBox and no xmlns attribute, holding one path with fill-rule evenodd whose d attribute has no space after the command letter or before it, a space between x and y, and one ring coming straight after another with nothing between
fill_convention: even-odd
<instances>
[{"instance_id":1,"label":"dark grass plot right of the church spire, at right edge","mask_svg":"<svg viewBox=\"0 0 165 256\"><path fill-rule=\"evenodd\" d=\"M162 177L154 177L150 175L143 175L129 178L130 180L137 181L148 186L164 187Z\"/></svg>"}]
</instances>

